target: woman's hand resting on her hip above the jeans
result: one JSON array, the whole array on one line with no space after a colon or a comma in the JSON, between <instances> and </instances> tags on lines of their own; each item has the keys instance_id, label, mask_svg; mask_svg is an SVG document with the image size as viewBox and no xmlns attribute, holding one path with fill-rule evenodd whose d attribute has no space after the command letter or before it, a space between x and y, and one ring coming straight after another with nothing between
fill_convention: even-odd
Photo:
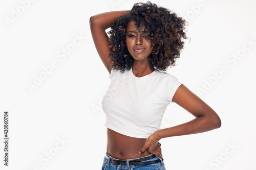
<instances>
[{"instance_id":1,"label":"woman's hand resting on her hip above the jeans","mask_svg":"<svg viewBox=\"0 0 256 170\"><path fill-rule=\"evenodd\" d=\"M139 154L142 154L147 150L149 153L156 155L160 158L163 158L161 143L159 143L158 141L159 137L155 132L146 139L142 149L139 151Z\"/></svg>"}]
</instances>

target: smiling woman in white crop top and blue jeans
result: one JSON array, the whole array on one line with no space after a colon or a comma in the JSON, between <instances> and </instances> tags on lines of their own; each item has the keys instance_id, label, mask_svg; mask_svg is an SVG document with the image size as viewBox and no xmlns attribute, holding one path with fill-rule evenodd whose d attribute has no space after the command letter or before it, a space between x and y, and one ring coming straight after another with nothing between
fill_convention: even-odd
<instances>
[{"instance_id":1,"label":"smiling woman in white crop top and blue jeans","mask_svg":"<svg viewBox=\"0 0 256 170\"><path fill-rule=\"evenodd\" d=\"M102 100L108 136L102 169L165 169L161 138L221 127L214 110L165 72L179 58L184 26L181 17L150 2L90 18L96 50L111 79ZM170 102L196 118L160 129Z\"/></svg>"}]
</instances>

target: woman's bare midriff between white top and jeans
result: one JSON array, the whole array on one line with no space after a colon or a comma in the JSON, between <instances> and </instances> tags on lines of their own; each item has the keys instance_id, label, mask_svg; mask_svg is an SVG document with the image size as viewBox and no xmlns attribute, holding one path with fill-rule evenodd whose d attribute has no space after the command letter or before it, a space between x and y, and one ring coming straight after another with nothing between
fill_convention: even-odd
<instances>
[{"instance_id":1,"label":"woman's bare midriff between white top and jeans","mask_svg":"<svg viewBox=\"0 0 256 170\"><path fill-rule=\"evenodd\" d=\"M108 136L106 153L111 157L116 159L136 159L151 155L147 150L143 154L139 154L146 139L126 136L109 128L107 128L106 132Z\"/></svg>"}]
</instances>

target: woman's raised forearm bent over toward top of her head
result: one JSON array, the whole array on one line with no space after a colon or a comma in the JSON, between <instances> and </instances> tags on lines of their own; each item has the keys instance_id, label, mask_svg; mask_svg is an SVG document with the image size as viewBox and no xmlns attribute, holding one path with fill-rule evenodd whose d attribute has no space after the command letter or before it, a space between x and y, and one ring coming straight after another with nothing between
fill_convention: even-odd
<instances>
[{"instance_id":1,"label":"woman's raised forearm bent over toward top of her head","mask_svg":"<svg viewBox=\"0 0 256 170\"><path fill-rule=\"evenodd\" d=\"M121 15L125 15L126 13L130 12L130 10L126 11L111 11L111 12L104 12L101 14L97 14L90 17L90 26L97 26L103 30L110 28L111 23L115 18L119 18Z\"/></svg>"}]
</instances>

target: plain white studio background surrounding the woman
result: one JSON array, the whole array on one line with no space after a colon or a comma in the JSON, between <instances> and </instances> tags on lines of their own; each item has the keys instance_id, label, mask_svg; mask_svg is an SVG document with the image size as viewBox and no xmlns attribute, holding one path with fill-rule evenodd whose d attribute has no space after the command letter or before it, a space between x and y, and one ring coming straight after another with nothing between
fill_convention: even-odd
<instances>
[{"instance_id":1,"label":"plain white studio background surrounding the woman","mask_svg":"<svg viewBox=\"0 0 256 170\"><path fill-rule=\"evenodd\" d=\"M5 110L9 111L10 136L9 166L4 166L1 142L0 168L100 169L106 151L100 103L110 79L95 50L89 18L130 10L138 1L28 2L0 3L0 136L4 138ZM256 169L256 2L152 3L189 21L190 43L186 41L177 66L167 71L222 120L222 127L210 132L161 139L166 169ZM72 48L76 36L82 37L81 42L76 41L79 45ZM64 58L62 50L67 47L73 52ZM54 61L57 66L46 74L43 67L49 68ZM222 68L225 71L220 73ZM39 75L45 79L30 91L28 84L34 84ZM162 128L193 118L171 103Z\"/></svg>"}]
</instances>

